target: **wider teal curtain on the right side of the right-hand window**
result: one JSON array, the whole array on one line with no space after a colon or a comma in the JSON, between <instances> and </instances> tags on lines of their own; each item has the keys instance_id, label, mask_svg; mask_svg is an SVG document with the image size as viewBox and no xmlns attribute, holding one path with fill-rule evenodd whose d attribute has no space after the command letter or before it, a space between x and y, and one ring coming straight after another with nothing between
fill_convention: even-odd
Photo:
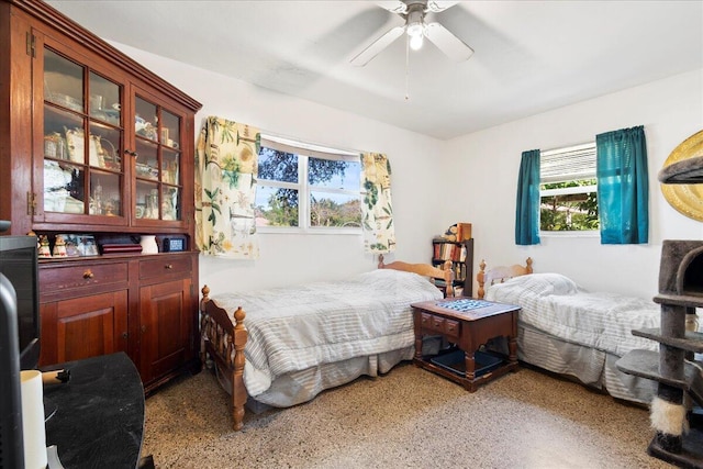
<instances>
[{"instance_id":1,"label":"wider teal curtain on the right side of the right-hand window","mask_svg":"<svg viewBox=\"0 0 703 469\"><path fill-rule=\"evenodd\" d=\"M601 244L649 241L649 179L644 126L595 136Z\"/></svg>"}]
</instances>

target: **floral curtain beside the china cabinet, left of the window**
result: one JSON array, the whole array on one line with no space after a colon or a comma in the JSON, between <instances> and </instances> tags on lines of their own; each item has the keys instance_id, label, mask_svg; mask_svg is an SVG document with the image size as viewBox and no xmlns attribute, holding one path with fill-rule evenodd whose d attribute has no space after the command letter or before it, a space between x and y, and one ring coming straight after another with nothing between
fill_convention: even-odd
<instances>
[{"instance_id":1,"label":"floral curtain beside the china cabinet, left of the window","mask_svg":"<svg viewBox=\"0 0 703 469\"><path fill-rule=\"evenodd\" d=\"M254 201L260 133L210 116L196 148L196 245L201 253L257 259Z\"/></svg>"}]
</instances>

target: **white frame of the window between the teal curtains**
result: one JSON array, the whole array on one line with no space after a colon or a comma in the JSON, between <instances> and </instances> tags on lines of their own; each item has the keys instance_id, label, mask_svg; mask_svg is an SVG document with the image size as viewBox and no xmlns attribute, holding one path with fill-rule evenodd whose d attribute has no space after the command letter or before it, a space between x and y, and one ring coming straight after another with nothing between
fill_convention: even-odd
<instances>
[{"instance_id":1,"label":"white frame of the window between the teal curtains","mask_svg":"<svg viewBox=\"0 0 703 469\"><path fill-rule=\"evenodd\" d=\"M569 182L576 180L583 179L595 179L596 178L596 158L595 158L595 141L587 142L578 145L570 145L565 147L557 147L553 149L548 149L545 152L540 152L539 159L539 206L542 206L543 197L550 196L566 196L573 193L589 193L596 192L598 193L598 181L595 185L591 186L578 186L570 188L560 188L560 189L542 189L542 186L545 183L553 182ZM589 168L588 171L572 171L572 172L560 172L557 176L550 176L547 178L543 177L543 158L546 156L547 158L556 155L567 155L570 153L588 153L589 150L593 154L593 167L592 170ZM542 209L539 210L542 215ZM599 206L600 212L600 206ZM545 231L542 230L542 216L539 221L539 237L600 237L600 230L560 230L560 231Z\"/></svg>"}]
</instances>

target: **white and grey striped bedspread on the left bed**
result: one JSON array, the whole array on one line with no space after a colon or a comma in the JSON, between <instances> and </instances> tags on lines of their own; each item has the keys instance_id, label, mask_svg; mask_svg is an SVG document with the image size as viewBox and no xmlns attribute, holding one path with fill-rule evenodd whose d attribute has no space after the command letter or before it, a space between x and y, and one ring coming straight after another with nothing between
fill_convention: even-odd
<instances>
[{"instance_id":1,"label":"white and grey striped bedspread on the left bed","mask_svg":"<svg viewBox=\"0 0 703 469\"><path fill-rule=\"evenodd\" d=\"M213 298L246 313L244 383L256 397L286 373L413 345L411 303L442 299L426 278L379 269L349 280Z\"/></svg>"}]
</instances>

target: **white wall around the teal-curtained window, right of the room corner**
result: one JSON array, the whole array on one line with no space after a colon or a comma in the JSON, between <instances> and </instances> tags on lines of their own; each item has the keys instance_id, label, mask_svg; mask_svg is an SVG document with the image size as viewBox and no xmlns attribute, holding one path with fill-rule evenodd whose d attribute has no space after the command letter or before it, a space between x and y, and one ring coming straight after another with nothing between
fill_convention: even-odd
<instances>
[{"instance_id":1,"label":"white wall around the teal-curtained window, right of the room corner","mask_svg":"<svg viewBox=\"0 0 703 469\"><path fill-rule=\"evenodd\" d=\"M649 244L601 245L594 237L542 237L536 246L514 242L515 188L523 150L594 141L595 135L645 126L649 158ZM685 217L663 198L657 172L671 150L703 129L703 69L603 96L447 143L445 180L456 201L444 223L473 223L475 271L489 265L522 264L562 272L590 290L651 298L658 292L662 239L701 239L701 222ZM460 202L459 202L460 201Z\"/></svg>"}]
</instances>

